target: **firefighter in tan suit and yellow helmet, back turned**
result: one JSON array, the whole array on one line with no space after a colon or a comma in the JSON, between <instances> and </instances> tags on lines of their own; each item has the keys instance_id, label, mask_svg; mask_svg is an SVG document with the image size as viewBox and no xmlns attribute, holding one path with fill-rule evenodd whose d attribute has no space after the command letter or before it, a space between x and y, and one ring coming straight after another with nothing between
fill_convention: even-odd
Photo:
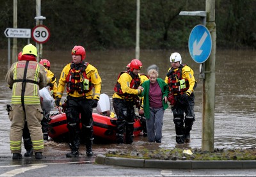
<instances>
[{"instance_id":1,"label":"firefighter in tan suit and yellow helmet, back turned","mask_svg":"<svg viewBox=\"0 0 256 177\"><path fill-rule=\"evenodd\" d=\"M36 159L42 159L44 139L40 121L43 114L40 105L39 89L47 84L44 66L36 62L37 50L32 44L24 46L19 61L12 64L5 80L12 88L12 101L9 107L10 149L13 159L22 158L22 129L25 121L28 123L29 133Z\"/></svg>"}]
</instances>

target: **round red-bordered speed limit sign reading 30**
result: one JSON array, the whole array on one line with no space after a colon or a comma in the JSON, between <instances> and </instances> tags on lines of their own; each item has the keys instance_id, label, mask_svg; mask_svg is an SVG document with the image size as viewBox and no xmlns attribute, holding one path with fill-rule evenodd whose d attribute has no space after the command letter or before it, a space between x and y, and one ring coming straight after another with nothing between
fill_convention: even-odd
<instances>
[{"instance_id":1,"label":"round red-bordered speed limit sign reading 30","mask_svg":"<svg viewBox=\"0 0 256 177\"><path fill-rule=\"evenodd\" d=\"M32 29L32 38L37 43L45 43L50 38L50 30L44 25L35 26Z\"/></svg>"}]
</instances>

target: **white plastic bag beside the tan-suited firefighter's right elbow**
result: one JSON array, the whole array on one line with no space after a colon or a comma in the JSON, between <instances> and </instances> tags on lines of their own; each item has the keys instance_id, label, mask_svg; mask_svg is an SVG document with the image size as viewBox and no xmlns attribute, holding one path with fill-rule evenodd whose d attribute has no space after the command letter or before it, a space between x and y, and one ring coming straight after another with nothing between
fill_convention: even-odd
<instances>
[{"instance_id":1,"label":"white plastic bag beside the tan-suited firefighter's right elbow","mask_svg":"<svg viewBox=\"0 0 256 177\"><path fill-rule=\"evenodd\" d=\"M49 86L42 88L39 90L40 100L42 109L45 111L50 112L54 108L54 99L52 98L49 90Z\"/></svg>"}]
</instances>

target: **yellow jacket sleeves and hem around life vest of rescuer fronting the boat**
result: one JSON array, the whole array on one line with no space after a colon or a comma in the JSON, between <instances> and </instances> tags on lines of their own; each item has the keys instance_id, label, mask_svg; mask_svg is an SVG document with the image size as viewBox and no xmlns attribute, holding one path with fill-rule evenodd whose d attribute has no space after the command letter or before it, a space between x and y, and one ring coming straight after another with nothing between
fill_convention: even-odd
<instances>
[{"instance_id":1,"label":"yellow jacket sleeves and hem around life vest of rescuer fronting the boat","mask_svg":"<svg viewBox=\"0 0 256 177\"><path fill-rule=\"evenodd\" d=\"M61 72L58 89L56 93L56 96L58 96L59 98L61 98L63 95L63 91L65 89L65 84L66 84L66 77L71 69L70 65L71 63L68 63L68 65L66 65ZM78 93L78 91L74 91L74 93L68 93L68 95L73 97L86 96L87 99L99 100L100 91L101 91L101 78L99 76L98 70L94 66L89 64L86 67L85 72L86 72L87 78L91 79L92 81L92 86L94 88L94 95L93 95L93 89L85 93L85 95L83 93L82 94Z\"/></svg>"}]
</instances>

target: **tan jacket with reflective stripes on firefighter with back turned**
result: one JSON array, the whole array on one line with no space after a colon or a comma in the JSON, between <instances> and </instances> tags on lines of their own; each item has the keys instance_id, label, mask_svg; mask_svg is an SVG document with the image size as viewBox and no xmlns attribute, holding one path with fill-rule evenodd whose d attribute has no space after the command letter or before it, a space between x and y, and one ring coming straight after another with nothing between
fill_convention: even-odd
<instances>
[{"instance_id":1,"label":"tan jacket with reflective stripes on firefighter with back turned","mask_svg":"<svg viewBox=\"0 0 256 177\"><path fill-rule=\"evenodd\" d=\"M22 80L24 77L24 70L26 61L17 61L13 63L11 68L6 73L5 80L10 87L12 87L12 101L13 105L20 105L22 93ZM26 88L24 95L24 104L39 105L40 95L39 89L47 85L47 77L44 66L36 61L29 61L26 73Z\"/></svg>"}]
</instances>

